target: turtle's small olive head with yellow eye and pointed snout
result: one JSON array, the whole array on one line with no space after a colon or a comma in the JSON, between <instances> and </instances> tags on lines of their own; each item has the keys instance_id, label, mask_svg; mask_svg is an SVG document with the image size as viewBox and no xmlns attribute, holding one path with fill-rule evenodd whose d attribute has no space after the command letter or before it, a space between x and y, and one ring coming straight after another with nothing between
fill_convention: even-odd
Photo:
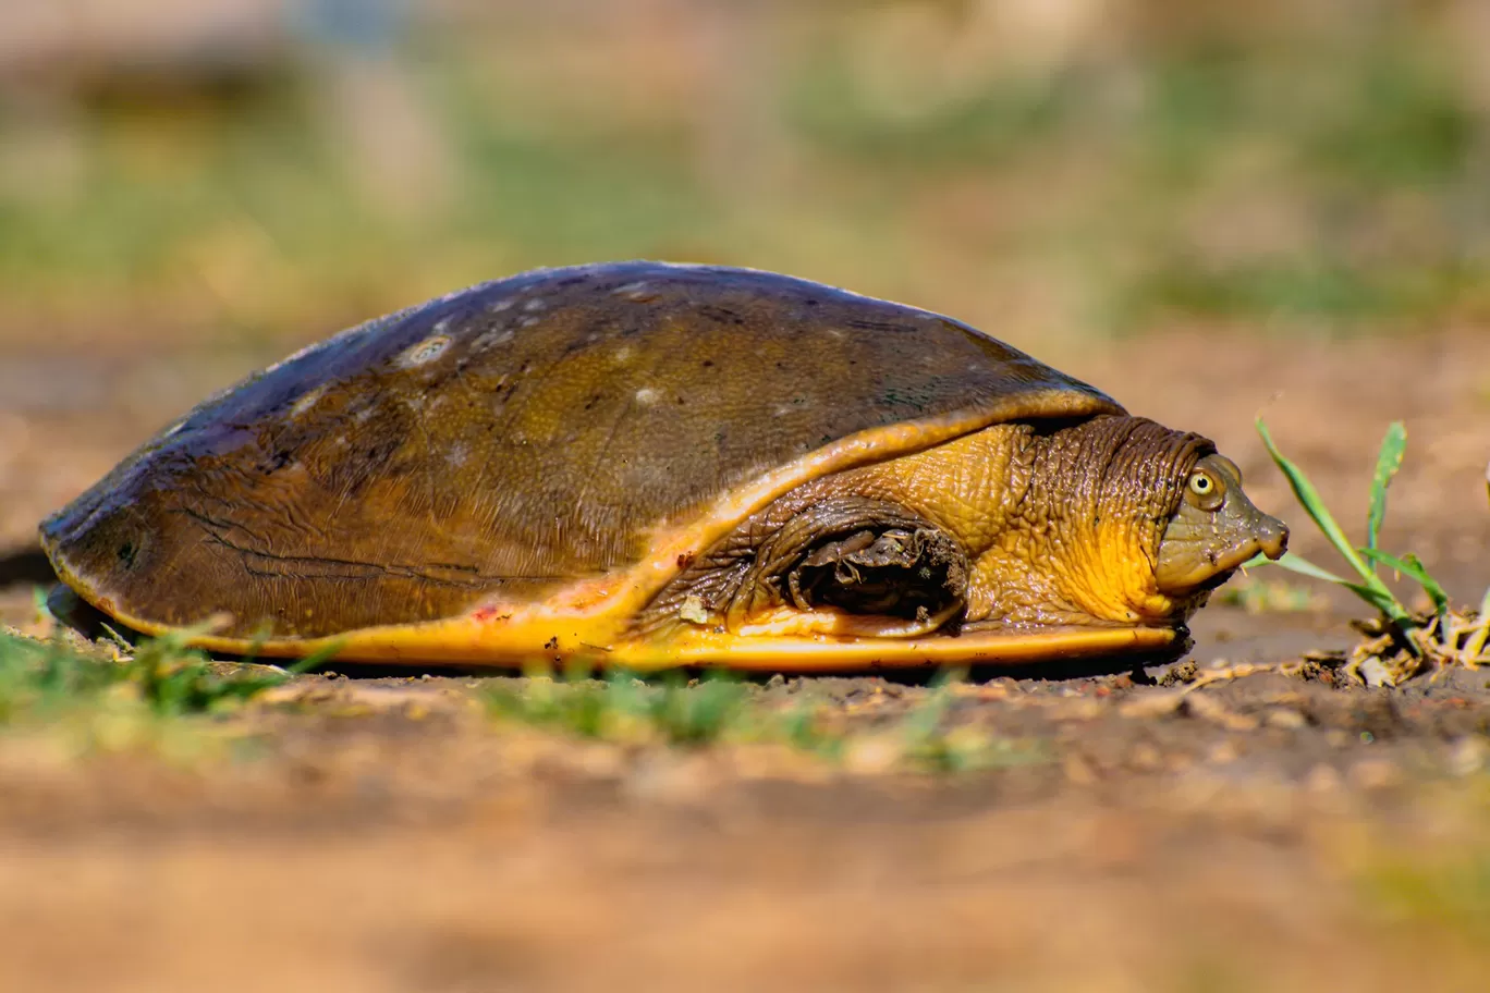
<instances>
[{"instance_id":1,"label":"turtle's small olive head with yellow eye and pointed snout","mask_svg":"<svg viewBox=\"0 0 1490 993\"><path fill-rule=\"evenodd\" d=\"M1185 479L1180 508L1159 542L1155 579L1167 596L1202 591L1225 582L1253 555L1275 560L1287 546L1287 524L1253 506L1237 463L1210 454Z\"/></svg>"}]
</instances>

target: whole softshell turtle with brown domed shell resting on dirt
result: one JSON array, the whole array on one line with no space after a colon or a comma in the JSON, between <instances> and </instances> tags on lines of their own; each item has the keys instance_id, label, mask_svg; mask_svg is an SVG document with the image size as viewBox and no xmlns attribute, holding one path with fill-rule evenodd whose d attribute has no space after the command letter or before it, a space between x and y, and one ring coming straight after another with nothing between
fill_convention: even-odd
<instances>
[{"instance_id":1,"label":"whole softshell turtle with brown domed shell resting on dirt","mask_svg":"<svg viewBox=\"0 0 1490 993\"><path fill-rule=\"evenodd\" d=\"M827 670L1164 649L1287 529L1205 438L957 320L624 262L305 348L42 542L224 652Z\"/></svg>"}]
</instances>

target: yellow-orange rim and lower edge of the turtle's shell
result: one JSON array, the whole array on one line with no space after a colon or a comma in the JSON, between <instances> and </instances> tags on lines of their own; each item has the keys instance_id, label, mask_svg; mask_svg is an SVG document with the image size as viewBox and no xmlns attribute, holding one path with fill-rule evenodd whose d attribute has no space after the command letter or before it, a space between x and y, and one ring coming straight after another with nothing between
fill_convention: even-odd
<instances>
[{"instance_id":1,"label":"yellow-orange rim and lower edge of the turtle's shell","mask_svg":"<svg viewBox=\"0 0 1490 993\"><path fill-rule=\"evenodd\" d=\"M951 664L1031 662L1049 658L1155 651L1176 633L1164 627L1091 627L1033 631L968 631L961 636L854 637L800 634L791 625L757 625L758 634L729 634L718 628L678 625L670 633L642 636L632 618L676 575L678 563L697 555L745 518L794 487L855 466L922 451L988 424L1024 417L1070 417L1107 408L1089 395L1052 389L1001 405L943 418L876 427L849 435L788 463L748 487L724 494L693 521L660 529L653 554L606 576L577 581L541 603L493 600L457 618L371 627L322 639L267 639L192 634L200 648L264 657L295 658L337 648L337 658L361 662L522 667L539 661L592 660L602 665L659 670L676 665L720 665L741 670L833 671L854 668L913 668ZM176 628L130 616L106 591L80 576L63 575L85 600L145 634ZM845 618L848 621L848 618Z\"/></svg>"}]
</instances>

